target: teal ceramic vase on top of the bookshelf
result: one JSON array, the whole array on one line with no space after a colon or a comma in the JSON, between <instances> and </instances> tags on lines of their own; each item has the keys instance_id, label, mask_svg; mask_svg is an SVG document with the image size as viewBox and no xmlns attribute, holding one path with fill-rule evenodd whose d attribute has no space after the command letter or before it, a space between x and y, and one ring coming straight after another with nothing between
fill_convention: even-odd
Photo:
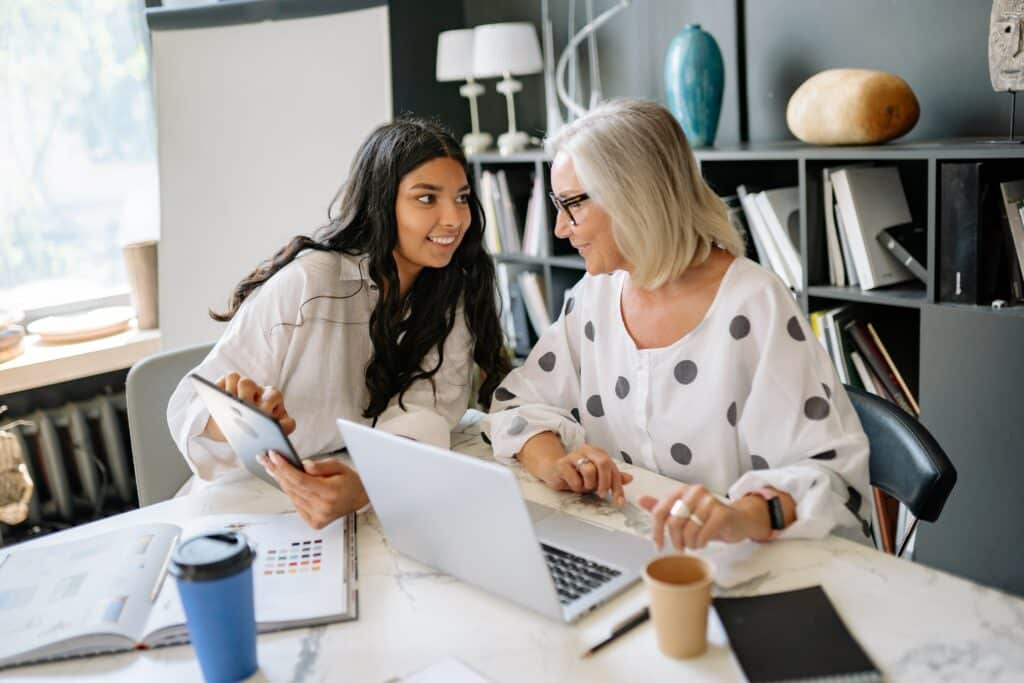
<instances>
[{"instance_id":1,"label":"teal ceramic vase on top of the bookshelf","mask_svg":"<svg viewBox=\"0 0 1024 683\"><path fill-rule=\"evenodd\" d=\"M699 24L687 24L665 55L665 94L691 146L715 143L724 86L718 43Z\"/></svg>"}]
</instances>

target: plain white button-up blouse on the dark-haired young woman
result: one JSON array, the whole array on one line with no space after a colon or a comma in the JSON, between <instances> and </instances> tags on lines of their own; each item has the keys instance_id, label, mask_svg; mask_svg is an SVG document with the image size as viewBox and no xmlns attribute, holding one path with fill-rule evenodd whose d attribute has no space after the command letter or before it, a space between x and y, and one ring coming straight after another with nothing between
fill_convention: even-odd
<instances>
[{"instance_id":1,"label":"plain white button-up blouse on the dark-haired young woman","mask_svg":"<svg viewBox=\"0 0 1024 683\"><path fill-rule=\"evenodd\" d=\"M249 295L196 373L214 381L237 372L278 387L296 422L291 434L306 458L344 445L335 420L362 424L370 392L366 368L373 352L369 323L377 304L376 286L365 257L307 251ZM398 405L392 398L377 427L449 447L450 433L466 412L471 388L473 340L462 307L444 341L444 365L429 380L418 380ZM437 362L428 353L424 368ZM171 396L171 435L200 479L237 472L241 464L227 443L202 436L210 414L183 379Z\"/></svg>"}]
</instances>

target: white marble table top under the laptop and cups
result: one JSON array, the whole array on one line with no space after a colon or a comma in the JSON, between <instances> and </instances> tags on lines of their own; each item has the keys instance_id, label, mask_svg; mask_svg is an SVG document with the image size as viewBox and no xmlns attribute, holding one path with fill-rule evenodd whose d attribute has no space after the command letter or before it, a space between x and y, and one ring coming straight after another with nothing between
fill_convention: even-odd
<instances>
[{"instance_id":1,"label":"white marble table top under the laptop and cups","mask_svg":"<svg viewBox=\"0 0 1024 683\"><path fill-rule=\"evenodd\" d=\"M489 457L475 427L455 450ZM531 501L609 528L647 535L642 494L676 482L639 468L625 510L593 496L557 494L521 469ZM187 496L40 539L54 543L150 521L181 522L229 512L281 512L287 498L255 478L197 487ZM717 595L755 595L824 587L871 659L892 681L1024 681L1024 600L884 555L838 537L737 546L716 544ZM743 680L711 612L709 650L697 658L663 656L647 623L590 658L580 653L645 602L643 587L598 608L575 626L526 611L397 554L372 512L358 522L359 618L259 637L254 681L400 679L447 655L490 681ZM2 622L0 622L2 623ZM780 620L784 628L784 620ZM2 632L2 627L0 627ZM799 635L795 634L795 637ZM72 659L0 672L4 681L202 680L191 647Z\"/></svg>"}]
</instances>

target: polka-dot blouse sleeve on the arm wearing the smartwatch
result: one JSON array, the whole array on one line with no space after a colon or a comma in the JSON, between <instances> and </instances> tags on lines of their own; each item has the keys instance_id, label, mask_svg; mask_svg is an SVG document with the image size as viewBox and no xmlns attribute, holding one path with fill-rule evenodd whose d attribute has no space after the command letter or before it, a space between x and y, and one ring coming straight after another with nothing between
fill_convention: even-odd
<instances>
[{"instance_id":1,"label":"polka-dot blouse sleeve on the arm wearing the smartwatch","mask_svg":"<svg viewBox=\"0 0 1024 683\"><path fill-rule=\"evenodd\" d=\"M738 500L770 486L797 503L781 538L821 538L836 526L869 527L867 437L824 349L787 291L748 299L732 332L750 331L751 390L737 405L746 471L729 488Z\"/></svg>"}]
</instances>

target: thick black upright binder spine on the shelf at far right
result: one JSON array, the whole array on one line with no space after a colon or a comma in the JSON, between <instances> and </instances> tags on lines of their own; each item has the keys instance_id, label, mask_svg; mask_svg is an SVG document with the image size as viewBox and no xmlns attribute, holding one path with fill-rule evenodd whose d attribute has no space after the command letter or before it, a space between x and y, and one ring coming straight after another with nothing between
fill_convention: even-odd
<instances>
[{"instance_id":1,"label":"thick black upright binder spine on the shelf at far right","mask_svg":"<svg viewBox=\"0 0 1024 683\"><path fill-rule=\"evenodd\" d=\"M978 303L978 163L942 164L939 181L939 299Z\"/></svg>"}]
</instances>

